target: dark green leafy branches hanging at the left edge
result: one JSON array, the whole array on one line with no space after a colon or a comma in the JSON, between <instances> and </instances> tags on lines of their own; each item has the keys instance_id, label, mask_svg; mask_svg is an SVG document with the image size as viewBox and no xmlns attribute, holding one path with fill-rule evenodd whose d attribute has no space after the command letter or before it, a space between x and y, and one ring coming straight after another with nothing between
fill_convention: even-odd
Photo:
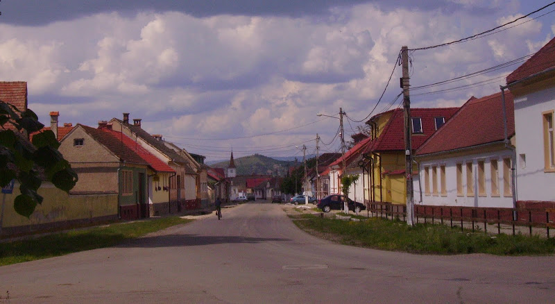
<instances>
[{"instance_id":1,"label":"dark green leafy branches hanging at the left edge","mask_svg":"<svg viewBox=\"0 0 555 304\"><path fill-rule=\"evenodd\" d=\"M33 214L42 196L37 193L44 175L58 189L69 192L77 183L77 174L58 151L60 143L51 130L33 136L29 142L22 133L7 128L12 125L28 134L44 127L32 110L20 111L14 105L0 101L0 187L11 180L19 182L19 194L14 209L24 217Z\"/></svg>"}]
</instances>

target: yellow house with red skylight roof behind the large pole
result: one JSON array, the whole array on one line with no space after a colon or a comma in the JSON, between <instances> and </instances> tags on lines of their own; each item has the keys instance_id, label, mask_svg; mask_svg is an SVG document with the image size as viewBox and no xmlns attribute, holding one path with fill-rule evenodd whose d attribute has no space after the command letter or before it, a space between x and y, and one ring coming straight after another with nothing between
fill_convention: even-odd
<instances>
[{"instance_id":1,"label":"yellow house with red skylight roof behind the large pole","mask_svg":"<svg viewBox=\"0 0 555 304\"><path fill-rule=\"evenodd\" d=\"M411 109L413 151L427 140L459 108ZM364 171L364 201L404 204L407 183L404 153L404 112L389 110L366 121L372 130L372 142L359 166ZM413 172L417 171L413 164ZM412 173L411 173L412 174Z\"/></svg>"}]
</instances>

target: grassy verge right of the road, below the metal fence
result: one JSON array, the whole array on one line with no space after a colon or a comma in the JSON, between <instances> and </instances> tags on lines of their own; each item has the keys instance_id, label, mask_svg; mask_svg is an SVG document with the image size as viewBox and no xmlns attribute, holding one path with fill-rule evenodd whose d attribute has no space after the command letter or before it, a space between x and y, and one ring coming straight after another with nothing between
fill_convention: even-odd
<instances>
[{"instance_id":1,"label":"grassy verge right of the road, below the metal fence","mask_svg":"<svg viewBox=\"0 0 555 304\"><path fill-rule=\"evenodd\" d=\"M552 255L555 239L527 235L486 235L461 233L460 228L419 223L414 227L402 221L379 218L362 221L320 218L303 214L294 221L299 228L342 244L389 251L425 254L489 253L493 255Z\"/></svg>"}]
</instances>

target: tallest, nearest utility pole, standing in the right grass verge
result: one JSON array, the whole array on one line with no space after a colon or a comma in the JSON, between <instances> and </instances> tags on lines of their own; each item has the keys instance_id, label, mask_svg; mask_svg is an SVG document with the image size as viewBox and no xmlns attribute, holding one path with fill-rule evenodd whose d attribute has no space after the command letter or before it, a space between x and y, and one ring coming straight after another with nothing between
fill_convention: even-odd
<instances>
[{"instance_id":1,"label":"tallest, nearest utility pole, standing in the right grass verge","mask_svg":"<svg viewBox=\"0 0 555 304\"><path fill-rule=\"evenodd\" d=\"M404 173L407 177L407 224L414 225L414 202L412 187L412 144L411 144L411 98L409 95L409 48L407 46L401 49L401 62L403 75L401 78L401 87L403 89L403 109L404 109L404 155L405 167Z\"/></svg>"}]
</instances>

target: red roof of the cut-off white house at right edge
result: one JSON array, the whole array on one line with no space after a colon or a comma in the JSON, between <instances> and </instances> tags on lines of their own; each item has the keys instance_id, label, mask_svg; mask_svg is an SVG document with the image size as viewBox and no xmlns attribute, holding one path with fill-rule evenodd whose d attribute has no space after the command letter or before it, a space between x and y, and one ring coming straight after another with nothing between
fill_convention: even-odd
<instances>
[{"instance_id":1,"label":"red roof of the cut-off white house at right edge","mask_svg":"<svg viewBox=\"0 0 555 304\"><path fill-rule=\"evenodd\" d=\"M529 60L524 62L518 69L507 76L507 84L518 81L522 78L532 76L541 71L555 68L555 38L547 42Z\"/></svg>"}]
</instances>

